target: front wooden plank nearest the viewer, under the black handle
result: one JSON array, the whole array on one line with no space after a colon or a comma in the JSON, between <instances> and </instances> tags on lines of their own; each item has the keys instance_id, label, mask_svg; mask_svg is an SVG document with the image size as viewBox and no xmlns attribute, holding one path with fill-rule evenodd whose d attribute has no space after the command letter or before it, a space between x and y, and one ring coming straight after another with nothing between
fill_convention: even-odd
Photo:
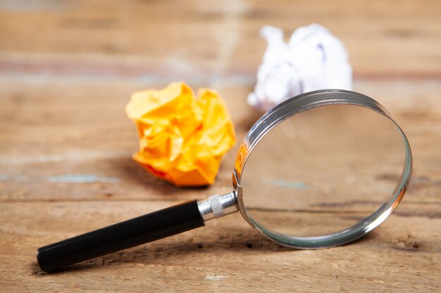
<instances>
[{"instance_id":1,"label":"front wooden plank nearest the viewer, under the black handle","mask_svg":"<svg viewBox=\"0 0 441 293\"><path fill-rule=\"evenodd\" d=\"M441 235L427 237L424 227L440 227L440 218L397 214L354 244L313 251L276 245L235 214L208 222L204 228L77 264L63 273L39 273L34 256L37 246L154 211L165 204L168 203L1 204L4 261L0 280L8 288L19 286L32 292L439 289Z\"/></svg>"}]
</instances>

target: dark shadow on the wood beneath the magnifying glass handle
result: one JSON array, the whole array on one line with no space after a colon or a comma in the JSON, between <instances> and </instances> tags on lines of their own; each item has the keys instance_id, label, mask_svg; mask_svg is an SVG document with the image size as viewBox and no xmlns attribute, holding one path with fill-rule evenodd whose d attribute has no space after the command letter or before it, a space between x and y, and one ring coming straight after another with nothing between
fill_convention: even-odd
<instances>
[{"instance_id":1,"label":"dark shadow on the wood beneath the magnifying glass handle","mask_svg":"<svg viewBox=\"0 0 441 293\"><path fill-rule=\"evenodd\" d=\"M375 232L368 234L359 240L355 240L347 245L356 245L360 242L366 242L375 235ZM274 254L281 252L299 252L301 249L293 249L290 247L284 247L275 243L266 237L263 237L256 230L247 228L236 228L228 230L223 233L216 233L213 237L202 240L201 237L193 237L185 242L178 242L178 238L170 237L163 240L157 240L141 247L133 247L131 249L125 249L120 252L100 256L95 259L83 261L66 268L62 268L58 271L51 272L51 274L69 273L73 271L89 271L102 268L103 266L118 266L123 263L133 264L164 264L165 261L170 263L176 263L185 259L194 259L201 263L204 256L201 254L210 255L209 259L213 259L216 255L219 259L228 262L228 255L230 255L230 261L237 261L235 252L240 252L244 257L247 257L247 253L254 254ZM347 246L345 245L345 246ZM215 256L213 256L213 254ZM32 272L35 275L46 275L40 269L37 263L32 263Z\"/></svg>"}]
</instances>

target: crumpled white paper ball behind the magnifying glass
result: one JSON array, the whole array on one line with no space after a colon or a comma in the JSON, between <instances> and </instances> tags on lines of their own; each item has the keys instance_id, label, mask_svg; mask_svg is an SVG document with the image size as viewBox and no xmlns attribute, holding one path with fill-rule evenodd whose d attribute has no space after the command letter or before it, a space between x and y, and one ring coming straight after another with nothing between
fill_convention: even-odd
<instances>
[{"instance_id":1,"label":"crumpled white paper ball behind the magnifying glass","mask_svg":"<svg viewBox=\"0 0 441 293\"><path fill-rule=\"evenodd\" d=\"M295 30L288 44L283 31L269 25L261 37L268 47L257 72L249 105L267 111L287 98L318 89L351 89L352 67L342 42L315 23Z\"/></svg>"}]
</instances>

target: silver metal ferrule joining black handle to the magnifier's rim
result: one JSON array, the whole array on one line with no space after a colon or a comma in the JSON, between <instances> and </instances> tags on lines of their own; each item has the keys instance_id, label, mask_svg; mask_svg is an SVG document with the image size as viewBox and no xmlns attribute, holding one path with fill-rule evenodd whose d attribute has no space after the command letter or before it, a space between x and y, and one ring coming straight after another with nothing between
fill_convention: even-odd
<instances>
[{"instance_id":1,"label":"silver metal ferrule joining black handle to the magnifier's rim","mask_svg":"<svg viewBox=\"0 0 441 293\"><path fill-rule=\"evenodd\" d=\"M204 221L218 219L237 211L237 198L234 191L224 195L211 195L206 200L198 200L197 207Z\"/></svg>"}]
</instances>

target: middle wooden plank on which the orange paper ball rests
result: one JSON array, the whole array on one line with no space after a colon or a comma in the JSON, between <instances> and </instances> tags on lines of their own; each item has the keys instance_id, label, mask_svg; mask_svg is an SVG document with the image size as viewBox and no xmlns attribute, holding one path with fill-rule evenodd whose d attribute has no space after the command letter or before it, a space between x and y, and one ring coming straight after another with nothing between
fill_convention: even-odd
<instances>
[{"instance_id":1,"label":"middle wooden plank on which the orange paper ball rests","mask_svg":"<svg viewBox=\"0 0 441 293\"><path fill-rule=\"evenodd\" d=\"M224 193L231 186L238 144L226 155L218 179L209 190L175 188L149 176L132 161L137 134L123 109L131 91L143 89L137 79L109 82L51 78L51 84L35 82L27 87L14 77L4 77L4 81L8 86L0 89L5 105L0 110L0 138L5 142L0 146L0 174L8 184L0 190L0 200L162 200L165 195L176 201ZM441 84L356 82L355 89L383 103L409 136L414 149L414 184L410 192L414 185L435 188L433 193L411 197L440 202L437 178L441 175L441 157L437 145L441 143L441 107L437 95ZM218 87L228 103L238 141L260 115L244 101L250 90L243 86ZM72 177L75 174L85 176Z\"/></svg>"}]
</instances>

